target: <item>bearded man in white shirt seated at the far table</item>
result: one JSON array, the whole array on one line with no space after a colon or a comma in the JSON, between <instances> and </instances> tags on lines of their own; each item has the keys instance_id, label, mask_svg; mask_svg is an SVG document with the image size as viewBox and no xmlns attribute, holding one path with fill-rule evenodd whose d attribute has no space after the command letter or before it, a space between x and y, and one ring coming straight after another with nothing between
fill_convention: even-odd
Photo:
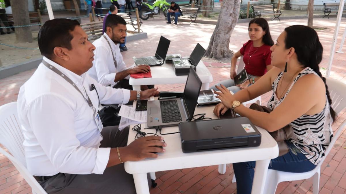
<instances>
[{"instance_id":1,"label":"bearded man in white shirt seated at the far table","mask_svg":"<svg viewBox=\"0 0 346 194\"><path fill-rule=\"evenodd\" d=\"M105 26L106 31L93 42L96 48L95 60L92 68L88 70L88 74L103 86L132 89L132 86L128 84L130 74L147 73L150 71L150 67L138 65L127 69L118 46L125 42L127 28L124 18L116 14L109 14ZM141 89L148 89L148 87L143 86Z\"/></svg>"}]
</instances>

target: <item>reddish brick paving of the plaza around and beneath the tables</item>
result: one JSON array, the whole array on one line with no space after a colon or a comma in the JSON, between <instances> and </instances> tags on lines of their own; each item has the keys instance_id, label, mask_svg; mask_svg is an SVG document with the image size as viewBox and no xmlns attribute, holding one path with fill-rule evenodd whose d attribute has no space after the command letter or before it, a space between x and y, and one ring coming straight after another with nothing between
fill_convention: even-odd
<instances>
[{"instance_id":1,"label":"reddish brick paving of the plaza around and beneath the tables","mask_svg":"<svg viewBox=\"0 0 346 194\"><path fill-rule=\"evenodd\" d=\"M325 30L319 30L318 34L322 45L324 46L324 58L320 64L322 74L327 67L329 52L331 48L331 39L333 38L335 18L328 19L314 19L314 26L327 27ZM273 39L280 35L283 29L287 26L295 24L306 24L306 19L298 20L283 20L269 21L271 34ZM346 19L342 20L342 27L340 32L340 39L346 25ZM151 56L154 54L157 47L160 35L165 36L171 40L169 54L183 54L190 55L196 43L200 43L204 48L207 48L211 34L215 28L213 25L191 25L188 23L180 22L178 26L166 25L163 20L149 19L144 21L143 30L148 33L148 39L139 40L136 42L129 42L127 47L128 51L122 52L125 62L128 65L133 63L132 57ZM242 43L248 40L247 24L240 23L236 26L230 40L230 49L237 50L242 46ZM341 40L338 40L340 42ZM337 45L338 48L338 45ZM346 51L346 46L344 46ZM346 83L346 57L345 54L335 54L331 77ZM224 64L221 62L214 62L210 60L205 64L211 64L214 67L220 67ZM220 80L229 77L229 68L213 68L208 67L213 75L213 83L216 84ZM33 74L33 70L22 72L20 74L0 80L0 105L16 101L19 88L25 81ZM159 85L159 90L166 91L182 91L183 85ZM270 97L270 93L262 96L262 103L265 105ZM340 123L346 118L345 111L343 111L338 120L335 122L333 128L336 129ZM338 138L333 149L327 156L321 169L320 179L320 193L321 194L346 194L346 132ZM157 187L151 190L151 194L156 193L234 193L236 192L236 185L231 183L233 177L233 167L231 164L227 165L226 174L220 175L217 171L217 166L206 166L189 169L177 169L173 171L164 171L156 173L158 183ZM276 193L283 194L312 194L312 179L283 182L280 183ZM26 184L24 179L16 168L8 161L8 159L0 155L0 193L30 193L31 189Z\"/></svg>"}]
</instances>

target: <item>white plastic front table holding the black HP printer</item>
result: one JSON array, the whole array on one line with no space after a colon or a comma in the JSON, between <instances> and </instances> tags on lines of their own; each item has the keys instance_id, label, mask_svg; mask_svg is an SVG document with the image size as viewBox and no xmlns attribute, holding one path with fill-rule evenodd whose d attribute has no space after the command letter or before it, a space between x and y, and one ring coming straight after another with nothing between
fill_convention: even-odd
<instances>
[{"instance_id":1,"label":"white plastic front table holding the black HP printer","mask_svg":"<svg viewBox=\"0 0 346 194\"><path fill-rule=\"evenodd\" d=\"M135 105L136 103L134 103ZM213 114L213 106L197 107L194 114L206 113L206 117L217 119ZM134 141L136 132L130 126L128 144ZM142 131L155 133L155 129L144 129L146 124L142 124ZM222 172L222 164L236 162L256 161L252 194L263 194L267 169L270 159L279 155L279 148L272 136L260 127L257 129L262 134L261 145L258 147L224 149L216 151L183 153L179 133L172 135L162 135L167 147L166 152L160 153L157 158L144 159L136 162L125 162L125 171L133 174L137 194L149 194L147 173L167 171L173 169L192 168L200 166L220 165L219 172ZM179 131L178 127L163 127L162 133L172 133Z\"/></svg>"}]
</instances>

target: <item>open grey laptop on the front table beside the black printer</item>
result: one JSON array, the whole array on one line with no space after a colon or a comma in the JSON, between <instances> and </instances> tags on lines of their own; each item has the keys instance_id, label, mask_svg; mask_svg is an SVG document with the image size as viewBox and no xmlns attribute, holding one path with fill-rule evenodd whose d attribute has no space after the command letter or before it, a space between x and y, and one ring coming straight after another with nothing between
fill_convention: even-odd
<instances>
[{"instance_id":1,"label":"open grey laptop on the front table beside the black printer","mask_svg":"<svg viewBox=\"0 0 346 194\"><path fill-rule=\"evenodd\" d=\"M202 81L190 67L183 97L148 101L147 126L176 126L180 122L191 120L201 87Z\"/></svg>"}]
</instances>

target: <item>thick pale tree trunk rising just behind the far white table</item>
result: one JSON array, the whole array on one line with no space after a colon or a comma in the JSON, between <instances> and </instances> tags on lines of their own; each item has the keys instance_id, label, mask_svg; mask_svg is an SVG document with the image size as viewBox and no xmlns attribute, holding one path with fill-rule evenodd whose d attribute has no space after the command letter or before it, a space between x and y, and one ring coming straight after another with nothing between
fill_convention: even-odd
<instances>
[{"instance_id":1,"label":"thick pale tree trunk rising just behind the far white table","mask_svg":"<svg viewBox=\"0 0 346 194\"><path fill-rule=\"evenodd\" d=\"M210 38L205 57L229 59L233 56L234 52L229 50L229 40L238 22L239 9L238 0L227 0L222 3L219 19Z\"/></svg>"}]
</instances>

